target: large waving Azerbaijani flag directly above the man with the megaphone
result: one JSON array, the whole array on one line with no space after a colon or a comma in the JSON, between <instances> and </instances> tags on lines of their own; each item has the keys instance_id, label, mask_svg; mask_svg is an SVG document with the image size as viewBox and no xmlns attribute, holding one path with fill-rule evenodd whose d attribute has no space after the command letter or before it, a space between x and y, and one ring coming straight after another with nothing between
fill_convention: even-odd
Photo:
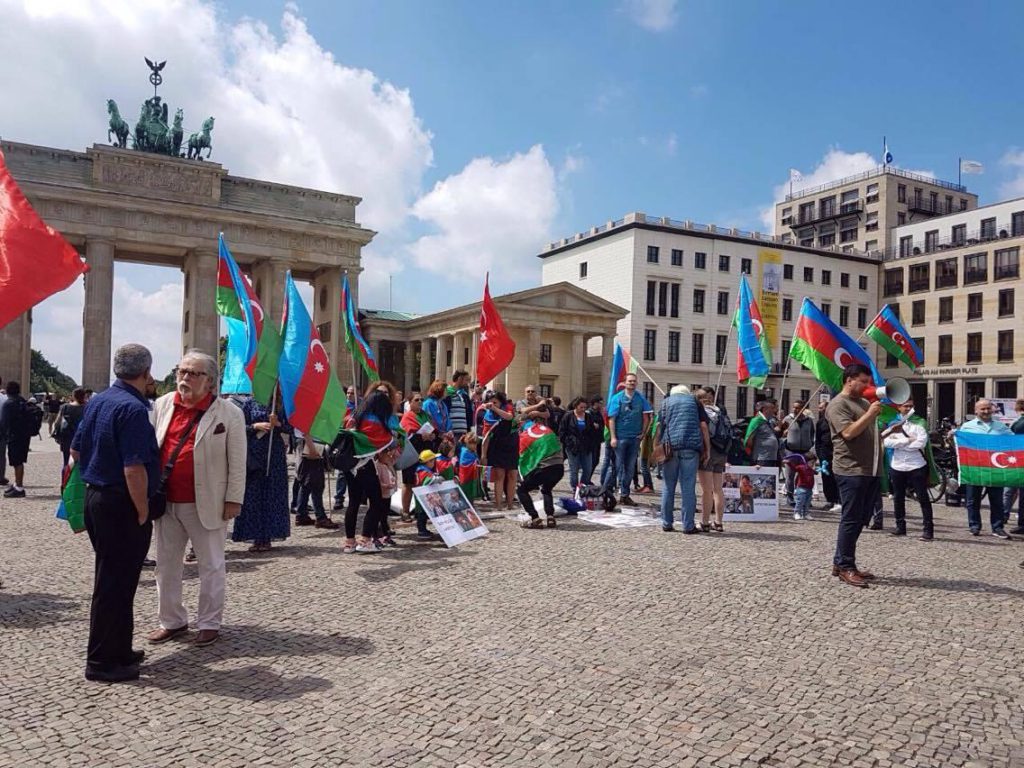
<instances>
[{"instance_id":1,"label":"large waving Azerbaijani flag directly above the man with the megaphone","mask_svg":"<svg viewBox=\"0 0 1024 768\"><path fill-rule=\"evenodd\" d=\"M843 388L843 369L853 362L866 366L876 385L885 383L864 348L808 298L800 308L790 355L804 364L815 379L837 392Z\"/></svg>"}]
</instances>

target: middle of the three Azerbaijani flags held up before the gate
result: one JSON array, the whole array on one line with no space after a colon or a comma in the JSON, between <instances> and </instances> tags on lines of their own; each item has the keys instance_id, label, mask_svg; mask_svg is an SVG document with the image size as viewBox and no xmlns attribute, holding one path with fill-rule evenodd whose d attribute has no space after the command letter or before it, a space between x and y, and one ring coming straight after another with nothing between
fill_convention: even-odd
<instances>
[{"instance_id":1,"label":"middle of the three Azerbaijani flags held up before the gate","mask_svg":"<svg viewBox=\"0 0 1024 768\"><path fill-rule=\"evenodd\" d=\"M285 415L305 434L330 444L345 418L345 392L291 271L285 275L284 331L280 374Z\"/></svg>"}]
</instances>

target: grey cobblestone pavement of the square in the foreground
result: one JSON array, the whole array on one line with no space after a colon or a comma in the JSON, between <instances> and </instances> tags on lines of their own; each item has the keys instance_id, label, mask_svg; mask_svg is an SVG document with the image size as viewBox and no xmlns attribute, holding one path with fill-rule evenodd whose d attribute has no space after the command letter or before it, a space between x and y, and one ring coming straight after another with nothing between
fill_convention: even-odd
<instances>
[{"instance_id":1,"label":"grey cobblestone pavement of the square in the foreground","mask_svg":"<svg viewBox=\"0 0 1024 768\"><path fill-rule=\"evenodd\" d=\"M82 677L92 555L53 520L57 461L37 449L30 498L0 499L4 768L1024 766L1024 543L972 538L963 509L932 544L865 532L869 590L830 575L827 514L229 543L221 641L147 647L110 686ZM147 571L139 647L155 609Z\"/></svg>"}]
</instances>

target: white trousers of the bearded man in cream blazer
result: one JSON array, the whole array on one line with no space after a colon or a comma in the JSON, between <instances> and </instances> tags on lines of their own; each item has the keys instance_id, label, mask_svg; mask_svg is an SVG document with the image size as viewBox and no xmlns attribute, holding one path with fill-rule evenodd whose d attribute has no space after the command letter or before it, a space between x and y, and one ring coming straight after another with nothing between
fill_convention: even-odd
<instances>
[{"instance_id":1,"label":"white trousers of the bearded man in cream blazer","mask_svg":"<svg viewBox=\"0 0 1024 768\"><path fill-rule=\"evenodd\" d=\"M181 603L181 575L185 546L191 540L199 564L199 616L201 630L219 630L224 615L225 528L204 527L195 504L167 505L167 513L154 523L157 539L157 596L160 626L176 630L188 626L188 611Z\"/></svg>"}]
</instances>

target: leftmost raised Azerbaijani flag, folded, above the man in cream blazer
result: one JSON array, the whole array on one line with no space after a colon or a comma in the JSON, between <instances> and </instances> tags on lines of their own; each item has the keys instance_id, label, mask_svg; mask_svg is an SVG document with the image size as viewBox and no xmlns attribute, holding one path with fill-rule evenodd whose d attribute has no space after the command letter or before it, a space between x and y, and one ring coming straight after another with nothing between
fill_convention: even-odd
<instances>
[{"instance_id":1,"label":"leftmost raised Azerbaijani flag, folded, above the man in cream blazer","mask_svg":"<svg viewBox=\"0 0 1024 768\"><path fill-rule=\"evenodd\" d=\"M278 385L282 337L273 323L266 323L252 284L239 269L224 242L219 238L217 266L217 313L227 326L227 354L221 381L223 392L252 392L269 406Z\"/></svg>"}]
</instances>

